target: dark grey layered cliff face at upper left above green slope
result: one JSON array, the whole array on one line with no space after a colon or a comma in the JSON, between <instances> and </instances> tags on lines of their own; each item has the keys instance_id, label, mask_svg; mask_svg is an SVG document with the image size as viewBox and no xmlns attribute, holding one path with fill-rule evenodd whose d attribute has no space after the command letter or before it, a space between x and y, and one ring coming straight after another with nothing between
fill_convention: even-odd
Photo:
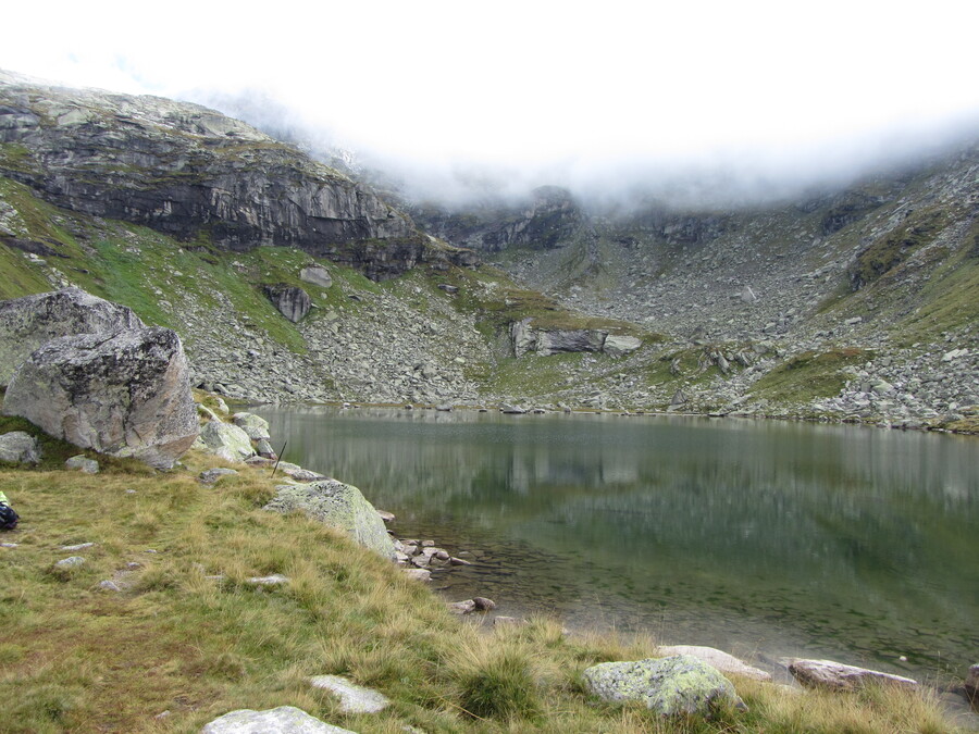
<instances>
[{"instance_id":1,"label":"dark grey layered cliff face at upper left above green slope","mask_svg":"<svg viewBox=\"0 0 979 734\"><path fill-rule=\"evenodd\" d=\"M0 175L66 209L225 249L337 250L381 275L466 259L300 150L213 110L157 97L39 86L0 72ZM369 254L350 253L363 240L396 242L410 262L386 253L374 266Z\"/></svg>"}]
</instances>

